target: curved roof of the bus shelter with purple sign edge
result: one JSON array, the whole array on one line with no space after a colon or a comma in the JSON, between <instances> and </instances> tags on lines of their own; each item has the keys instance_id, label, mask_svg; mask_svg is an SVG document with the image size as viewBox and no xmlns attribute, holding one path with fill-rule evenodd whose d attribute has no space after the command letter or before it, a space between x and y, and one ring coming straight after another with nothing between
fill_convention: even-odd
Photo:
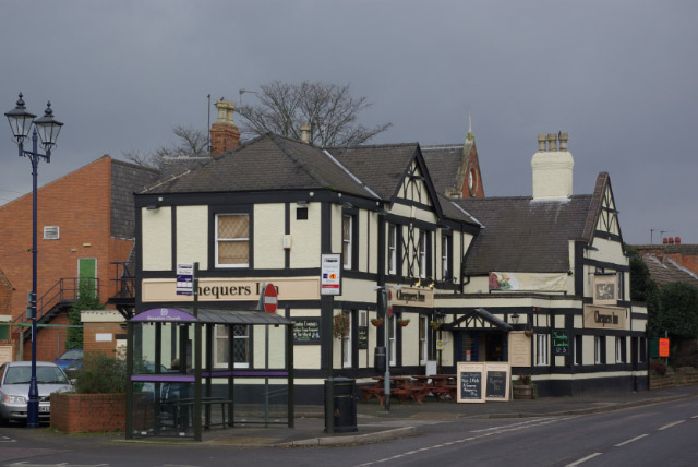
<instances>
[{"instance_id":1,"label":"curved roof of the bus shelter with purple sign edge","mask_svg":"<svg viewBox=\"0 0 698 467\"><path fill-rule=\"evenodd\" d=\"M141 323L204 323L204 324L274 324L291 325L288 318L276 313L249 310L198 309L195 318L190 308L152 308L133 316L130 321Z\"/></svg>"}]
</instances>

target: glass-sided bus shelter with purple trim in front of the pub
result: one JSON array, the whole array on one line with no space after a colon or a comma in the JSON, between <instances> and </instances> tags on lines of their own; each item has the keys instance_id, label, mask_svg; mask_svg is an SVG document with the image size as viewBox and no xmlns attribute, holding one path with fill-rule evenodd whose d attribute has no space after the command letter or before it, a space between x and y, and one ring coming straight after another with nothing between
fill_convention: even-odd
<instances>
[{"instance_id":1,"label":"glass-sided bus shelter with purple trim in front of the pub","mask_svg":"<svg viewBox=\"0 0 698 467\"><path fill-rule=\"evenodd\" d=\"M201 308L133 316L125 438L201 441L204 428L233 427L241 406L245 423L293 428L292 324L276 313Z\"/></svg>"}]
</instances>

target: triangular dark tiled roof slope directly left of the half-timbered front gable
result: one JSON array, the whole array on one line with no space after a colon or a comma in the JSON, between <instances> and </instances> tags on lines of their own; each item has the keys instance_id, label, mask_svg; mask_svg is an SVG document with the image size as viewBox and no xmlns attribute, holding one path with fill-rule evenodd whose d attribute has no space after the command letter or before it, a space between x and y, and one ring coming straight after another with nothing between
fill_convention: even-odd
<instances>
[{"instance_id":1,"label":"triangular dark tiled roof slope directly left of the half-timbered front gable","mask_svg":"<svg viewBox=\"0 0 698 467\"><path fill-rule=\"evenodd\" d=\"M389 201L417 153L417 143L329 147L327 152L385 201Z\"/></svg>"}]
</instances>

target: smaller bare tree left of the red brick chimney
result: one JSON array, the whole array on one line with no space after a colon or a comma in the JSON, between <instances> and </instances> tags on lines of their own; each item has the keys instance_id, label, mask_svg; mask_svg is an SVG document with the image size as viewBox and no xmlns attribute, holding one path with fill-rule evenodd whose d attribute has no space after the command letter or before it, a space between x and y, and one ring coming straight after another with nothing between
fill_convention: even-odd
<instances>
[{"instance_id":1,"label":"smaller bare tree left of the red brick chimney","mask_svg":"<svg viewBox=\"0 0 698 467\"><path fill-rule=\"evenodd\" d=\"M172 128L172 132L177 136L174 143L159 146L151 153L137 149L124 151L123 157L141 166L161 168L167 160L208 156L208 134L206 131L193 127L176 125Z\"/></svg>"}]
</instances>

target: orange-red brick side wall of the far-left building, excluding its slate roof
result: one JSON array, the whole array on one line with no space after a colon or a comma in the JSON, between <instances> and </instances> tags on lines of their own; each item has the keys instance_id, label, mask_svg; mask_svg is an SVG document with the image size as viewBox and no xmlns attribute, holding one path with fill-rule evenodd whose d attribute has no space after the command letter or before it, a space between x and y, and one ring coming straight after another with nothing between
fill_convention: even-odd
<instances>
[{"instance_id":1,"label":"orange-red brick side wall of the far-left building, excluding its slate roof","mask_svg":"<svg viewBox=\"0 0 698 467\"><path fill-rule=\"evenodd\" d=\"M56 160L58 163L58 159ZM39 172L40 182L40 172ZM99 297L113 295L113 261L125 261L133 244L111 238L111 158L100 157L92 164L55 180L38 192L38 285L44 296L60 278L77 276L80 258L97 259ZM32 290L32 194L0 206L0 268L14 286L11 314L25 313L26 292ZM60 227L59 240L44 240L44 227ZM85 246L88 243L89 246ZM67 319L64 321L67 323ZM58 322L55 322L58 323ZM41 328L37 358L57 357L59 332ZM64 348L65 328L60 330ZM29 354L25 352L25 359Z\"/></svg>"}]
</instances>

